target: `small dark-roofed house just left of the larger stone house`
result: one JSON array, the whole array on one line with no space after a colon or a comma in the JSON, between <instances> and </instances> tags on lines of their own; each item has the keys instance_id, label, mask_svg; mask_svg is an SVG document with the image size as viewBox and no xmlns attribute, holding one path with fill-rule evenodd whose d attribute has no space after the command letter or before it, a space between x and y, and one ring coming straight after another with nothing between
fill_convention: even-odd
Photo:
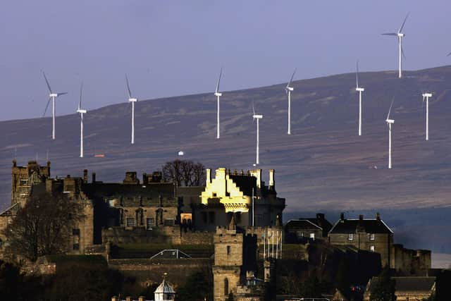
<instances>
[{"instance_id":1,"label":"small dark-roofed house just left of the larger stone house","mask_svg":"<svg viewBox=\"0 0 451 301\"><path fill-rule=\"evenodd\" d=\"M324 214L316 214L316 218L292 219L285 223L285 242L297 243L311 240L327 240L332 224Z\"/></svg>"}]
</instances>

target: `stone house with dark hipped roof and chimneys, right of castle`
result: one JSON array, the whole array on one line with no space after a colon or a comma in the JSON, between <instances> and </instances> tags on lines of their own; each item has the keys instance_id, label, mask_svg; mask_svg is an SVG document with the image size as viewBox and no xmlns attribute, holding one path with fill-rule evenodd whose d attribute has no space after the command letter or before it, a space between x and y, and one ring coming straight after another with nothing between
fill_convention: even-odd
<instances>
[{"instance_id":1,"label":"stone house with dark hipped roof and chimneys, right of castle","mask_svg":"<svg viewBox=\"0 0 451 301\"><path fill-rule=\"evenodd\" d=\"M366 250L381 254L381 264L390 264L391 247L393 245L393 231L384 223L379 214L376 219L340 219L329 231L331 245L352 245L357 250Z\"/></svg>"}]
</instances>

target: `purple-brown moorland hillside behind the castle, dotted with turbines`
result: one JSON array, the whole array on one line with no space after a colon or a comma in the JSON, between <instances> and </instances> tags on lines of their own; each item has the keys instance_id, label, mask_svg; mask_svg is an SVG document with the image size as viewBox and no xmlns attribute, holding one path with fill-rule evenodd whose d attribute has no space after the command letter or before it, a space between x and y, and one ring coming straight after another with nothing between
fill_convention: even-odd
<instances>
[{"instance_id":1,"label":"purple-brown moorland hillside behind the castle, dotted with turbines","mask_svg":"<svg viewBox=\"0 0 451 301\"><path fill-rule=\"evenodd\" d=\"M85 115L85 158L79 154L79 116L0 122L1 207L10 202L11 160L44 163L47 149L52 174L80 176L83 168L98 180L121 181L125 171L150 172L176 159L209 168L252 168L259 113L261 165L276 169L276 188L287 198L288 211L319 209L409 209L442 207L451 195L451 66L407 71L360 73L364 92L364 125L357 136L358 100L354 73L297 80L292 93L292 135L287 131L285 83L223 92L221 139L216 140L213 93L137 102L135 145L130 145L130 107L106 106ZM430 141L424 141L421 92L430 101ZM75 93L75 92L74 92ZM385 118L395 97L393 170L388 162ZM45 99L45 95L37 98ZM44 101L43 101L44 102ZM92 103L89 99L85 104ZM94 158L94 152L106 154ZM16 154L15 154L16 153ZM377 169L373 168L377 166Z\"/></svg>"}]
</instances>

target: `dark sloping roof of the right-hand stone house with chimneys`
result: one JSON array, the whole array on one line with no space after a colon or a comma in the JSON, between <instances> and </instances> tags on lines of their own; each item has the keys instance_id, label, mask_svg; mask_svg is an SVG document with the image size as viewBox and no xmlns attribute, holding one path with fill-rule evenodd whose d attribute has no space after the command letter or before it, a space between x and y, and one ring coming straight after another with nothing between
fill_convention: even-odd
<instances>
[{"instance_id":1,"label":"dark sloping roof of the right-hand stone house with chimneys","mask_svg":"<svg viewBox=\"0 0 451 301\"><path fill-rule=\"evenodd\" d=\"M393 231L382 219L339 219L329 233L357 233L357 227L359 227L359 232L364 233L393 234Z\"/></svg>"}]
</instances>

